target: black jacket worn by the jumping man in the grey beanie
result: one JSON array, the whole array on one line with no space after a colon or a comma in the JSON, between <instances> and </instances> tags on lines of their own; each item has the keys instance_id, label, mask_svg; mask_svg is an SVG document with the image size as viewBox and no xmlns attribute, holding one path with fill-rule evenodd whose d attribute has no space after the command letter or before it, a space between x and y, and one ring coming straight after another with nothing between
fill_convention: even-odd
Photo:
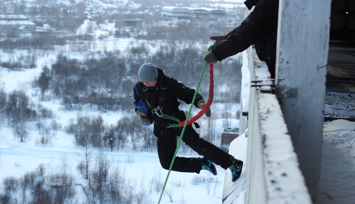
<instances>
[{"instance_id":1,"label":"black jacket worn by the jumping man in the grey beanie","mask_svg":"<svg viewBox=\"0 0 355 204\"><path fill-rule=\"evenodd\" d=\"M163 70L157 68L158 70L158 81L155 87L146 87L143 85L141 81L138 81L136 86L137 90L139 92L139 95L141 97L141 100L146 103L146 94L143 91L144 89L148 89L148 102L153 102L154 106L158 106L158 101L160 97L160 88L162 85L166 85L166 90L165 90L165 100L162 103L163 107L163 113L166 115L174 116L175 118L178 118L180 121L184 121L186 119L186 116L183 112L179 110L179 105L180 102L178 101L184 101L187 104L191 104L193 95L195 95L195 89L190 89L189 87L186 87L184 84L179 83L177 80L174 78L168 77L164 75ZM135 87L133 87L133 96L135 99L134 103L137 103L139 101L139 97L137 96ZM195 103L194 105L197 107L197 102L202 100L202 96L197 93ZM151 112L151 109L149 109L149 117L151 119L154 119L154 124L157 123L157 121L162 121L157 114L153 114ZM137 109L135 109L137 111ZM160 112L159 112L160 113ZM175 121L169 120L169 119L163 119L165 123L171 123L171 124L176 124ZM154 125L155 128L156 125Z\"/></svg>"}]
</instances>

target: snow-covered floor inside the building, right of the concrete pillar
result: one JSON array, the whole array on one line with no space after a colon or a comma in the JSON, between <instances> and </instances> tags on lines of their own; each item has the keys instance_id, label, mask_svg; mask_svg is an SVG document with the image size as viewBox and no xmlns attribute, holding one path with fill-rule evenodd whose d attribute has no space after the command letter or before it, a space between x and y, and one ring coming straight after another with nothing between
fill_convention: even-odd
<instances>
[{"instance_id":1,"label":"snow-covered floor inside the building, right of the concrete pillar","mask_svg":"<svg viewBox=\"0 0 355 204\"><path fill-rule=\"evenodd\" d=\"M322 204L354 204L355 122L324 123L320 199Z\"/></svg>"}]
</instances>

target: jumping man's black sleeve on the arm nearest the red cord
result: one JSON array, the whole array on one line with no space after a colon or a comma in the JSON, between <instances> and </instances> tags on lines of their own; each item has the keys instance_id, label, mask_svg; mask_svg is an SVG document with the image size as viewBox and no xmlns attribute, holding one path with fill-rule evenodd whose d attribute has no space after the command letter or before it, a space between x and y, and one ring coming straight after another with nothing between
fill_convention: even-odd
<instances>
[{"instance_id":1,"label":"jumping man's black sleeve on the arm nearest the red cord","mask_svg":"<svg viewBox=\"0 0 355 204\"><path fill-rule=\"evenodd\" d=\"M195 95L195 89L190 89L189 87L185 86L182 83L179 83L178 81L174 83L174 87L174 94L176 98L179 98L181 101L184 101L187 104L191 104L193 95ZM202 99L203 97L199 93L197 93L193 105L197 107L197 102Z\"/></svg>"}]
</instances>

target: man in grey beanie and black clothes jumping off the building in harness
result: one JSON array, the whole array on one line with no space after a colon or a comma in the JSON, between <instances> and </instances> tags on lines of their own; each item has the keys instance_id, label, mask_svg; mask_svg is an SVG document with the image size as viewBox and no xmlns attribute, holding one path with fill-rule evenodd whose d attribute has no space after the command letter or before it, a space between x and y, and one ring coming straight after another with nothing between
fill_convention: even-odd
<instances>
[{"instance_id":1,"label":"man in grey beanie and black clothes jumping off the building in harness","mask_svg":"<svg viewBox=\"0 0 355 204\"><path fill-rule=\"evenodd\" d=\"M138 78L140 81L133 88L136 114L143 124L154 124L153 132L157 137L160 164L164 169L169 170L177 147L177 136L180 136L183 130L181 126L176 125L178 124L176 120L170 118L180 121L186 119L184 111L179 109L178 99L187 104L195 101L193 105L200 109L206 106L206 101L198 93L193 100L194 89L164 75L162 69L156 68L151 63L143 64L139 68ZM141 106L145 106L146 109L141 109ZM205 114L207 117L211 117L211 109L208 108ZM170 118L162 117L162 115L168 115ZM229 168L231 170L232 181L239 178L243 166L241 160L235 159L232 155L201 138L191 124L186 126L183 135L182 141L202 157L176 156L171 168L172 171L199 174L201 170L208 170L213 175L217 175L214 167L214 164L217 164L223 169Z\"/></svg>"}]
</instances>

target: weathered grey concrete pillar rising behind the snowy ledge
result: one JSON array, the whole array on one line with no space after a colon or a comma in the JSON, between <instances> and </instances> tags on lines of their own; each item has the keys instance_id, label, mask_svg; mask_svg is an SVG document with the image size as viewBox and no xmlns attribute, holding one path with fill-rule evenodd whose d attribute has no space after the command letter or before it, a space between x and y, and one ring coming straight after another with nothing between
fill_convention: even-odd
<instances>
[{"instance_id":1,"label":"weathered grey concrete pillar rising behind the snowy ledge","mask_svg":"<svg viewBox=\"0 0 355 204\"><path fill-rule=\"evenodd\" d=\"M317 202L331 0L280 0L277 96L300 169Z\"/></svg>"}]
</instances>

